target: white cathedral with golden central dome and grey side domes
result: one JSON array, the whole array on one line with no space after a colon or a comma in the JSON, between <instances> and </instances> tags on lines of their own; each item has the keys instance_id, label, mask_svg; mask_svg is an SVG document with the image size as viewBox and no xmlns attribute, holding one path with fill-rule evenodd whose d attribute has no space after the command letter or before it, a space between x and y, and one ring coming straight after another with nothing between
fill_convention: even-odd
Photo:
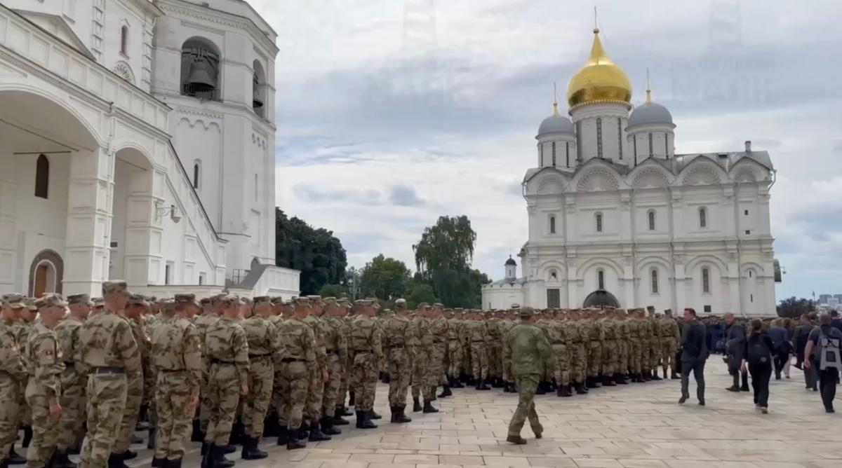
<instances>
[{"instance_id":1,"label":"white cathedral with golden central dome and grey side domes","mask_svg":"<svg viewBox=\"0 0 842 468\"><path fill-rule=\"evenodd\" d=\"M587 62L538 129L523 192L529 239L483 308L695 308L775 315L769 154L676 155L667 108L632 106L626 73L594 29ZM776 274L777 273L777 274Z\"/></svg>"}]
</instances>

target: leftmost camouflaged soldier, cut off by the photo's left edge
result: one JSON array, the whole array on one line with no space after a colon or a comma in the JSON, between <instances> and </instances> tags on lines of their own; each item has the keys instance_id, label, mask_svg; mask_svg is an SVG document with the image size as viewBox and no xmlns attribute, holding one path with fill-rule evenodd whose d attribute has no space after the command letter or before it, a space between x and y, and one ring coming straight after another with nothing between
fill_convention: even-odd
<instances>
[{"instance_id":1,"label":"leftmost camouflaged soldier, cut off by the photo's left edge","mask_svg":"<svg viewBox=\"0 0 842 468\"><path fill-rule=\"evenodd\" d=\"M0 301L0 466L10 461L15 464L26 461L19 455L10 460L14 440L18 438L19 382L24 380L26 369L22 350L8 323L18 318L19 309L24 308L23 300L19 294L8 294Z\"/></svg>"}]
</instances>

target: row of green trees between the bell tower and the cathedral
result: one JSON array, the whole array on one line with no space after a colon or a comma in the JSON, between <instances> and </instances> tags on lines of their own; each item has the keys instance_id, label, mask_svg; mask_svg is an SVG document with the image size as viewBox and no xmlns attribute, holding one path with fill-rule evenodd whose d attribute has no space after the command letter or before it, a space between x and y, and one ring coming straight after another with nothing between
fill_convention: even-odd
<instances>
[{"instance_id":1,"label":"row of green trees between the bell tower and the cathedral","mask_svg":"<svg viewBox=\"0 0 842 468\"><path fill-rule=\"evenodd\" d=\"M301 271L301 294L376 297L385 307L403 297L442 302L449 308L480 308L482 285L491 280L472 267L477 233L466 216L442 216L412 245L415 271L401 260L376 255L362 268L348 267L342 242L332 231L314 228L275 208L276 264Z\"/></svg>"}]
</instances>

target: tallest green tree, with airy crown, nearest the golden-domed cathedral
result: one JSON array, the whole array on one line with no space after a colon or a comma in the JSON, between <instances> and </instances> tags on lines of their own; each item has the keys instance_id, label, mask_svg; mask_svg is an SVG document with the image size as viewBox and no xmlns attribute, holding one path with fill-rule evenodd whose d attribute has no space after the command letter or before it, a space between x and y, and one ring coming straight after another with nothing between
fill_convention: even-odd
<instances>
[{"instance_id":1,"label":"tallest green tree, with airy crown, nearest the golden-domed cathedral","mask_svg":"<svg viewBox=\"0 0 842 468\"><path fill-rule=\"evenodd\" d=\"M480 308L488 276L472 270L477 233L466 216L442 216L413 245L415 281L429 284L448 307Z\"/></svg>"}]
</instances>

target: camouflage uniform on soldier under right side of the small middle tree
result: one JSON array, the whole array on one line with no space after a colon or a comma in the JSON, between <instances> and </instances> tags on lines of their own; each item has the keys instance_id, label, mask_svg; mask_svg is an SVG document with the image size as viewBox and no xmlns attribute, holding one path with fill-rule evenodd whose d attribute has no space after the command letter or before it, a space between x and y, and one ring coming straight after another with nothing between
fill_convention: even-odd
<instances>
[{"instance_id":1,"label":"camouflage uniform on soldier under right side of the small middle tree","mask_svg":"<svg viewBox=\"0 0 842 468\"><path fill-rule=\"evenodd\" d=\"M407 388L411 378L413 351L409 348L413 329L409 318L395 315L383 326L383 350L389 371L389 406L392 414L401 413L407 406ZM394 421L393 421L394 422Z\"/></svg>"}]
</instances>

